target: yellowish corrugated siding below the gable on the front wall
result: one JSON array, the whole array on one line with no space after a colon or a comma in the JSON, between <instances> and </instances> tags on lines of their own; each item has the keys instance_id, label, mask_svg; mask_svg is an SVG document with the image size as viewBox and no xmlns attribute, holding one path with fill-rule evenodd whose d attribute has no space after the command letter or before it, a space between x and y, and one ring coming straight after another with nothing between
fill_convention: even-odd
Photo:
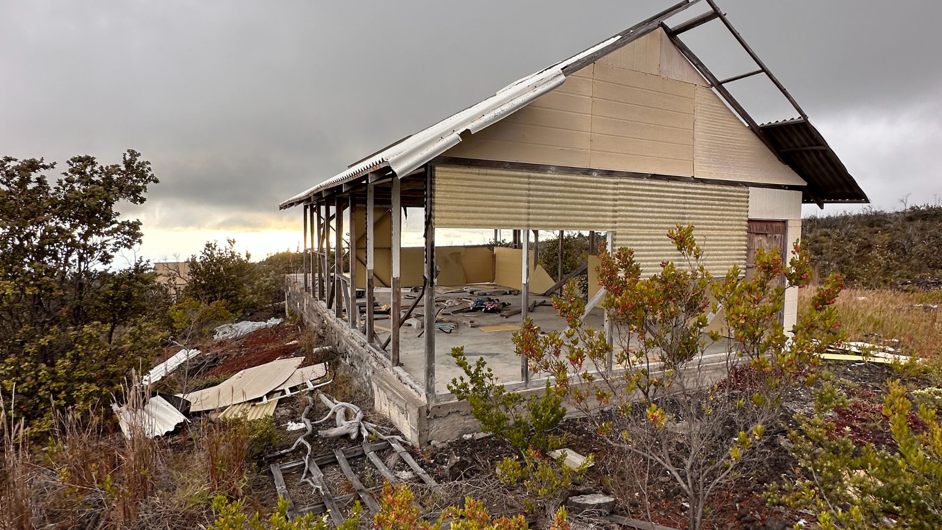
<instances>
[{"instance_id":1,"label":"yellowish corrugated siding below the gable on the front wall","mask_svg":"<svg viewBox=\"0 0 942 530\"><path fill-rule=\"evenodd\" d=\"M743 265L749 190L735 186L610 175L438 166L435 225L616 232L616 246L635 249L645 273L676 251L667 231L693 224L707 268Z\"/></svg>"}]
</instances>

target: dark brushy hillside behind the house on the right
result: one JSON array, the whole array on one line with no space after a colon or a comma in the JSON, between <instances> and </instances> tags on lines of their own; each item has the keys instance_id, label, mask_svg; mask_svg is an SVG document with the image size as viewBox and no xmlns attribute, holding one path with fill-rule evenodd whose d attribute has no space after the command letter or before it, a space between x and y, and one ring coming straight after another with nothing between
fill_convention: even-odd
<instances>
[{"instance_id":1,"label":"dark brushy hillside behind the house on the right","mask_svg":"<svg viewBox=\"0 0 942 530\"><path fill-rule=\"evenodd\" d=\"M861 288L942 287L942 206L805 218L804 247L821 277Z\"/></svg>"}]
</instances>

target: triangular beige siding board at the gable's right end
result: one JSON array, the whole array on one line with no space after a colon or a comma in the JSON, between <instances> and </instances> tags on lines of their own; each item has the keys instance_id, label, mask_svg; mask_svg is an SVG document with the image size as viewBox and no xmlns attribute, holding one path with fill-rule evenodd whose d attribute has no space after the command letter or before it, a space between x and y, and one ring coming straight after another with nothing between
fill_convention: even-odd
<instances>
[{"instance_id":1,"label":"triangular beige siding board at the gable's right end","mask_svg":"<svg viewBox=\"0 0 942 530\"><path fill-rule=\"evenodd\" d=\"M693 175L745 182L804 185L706 87L696 87Z\"/></svg>"}]
</instances>

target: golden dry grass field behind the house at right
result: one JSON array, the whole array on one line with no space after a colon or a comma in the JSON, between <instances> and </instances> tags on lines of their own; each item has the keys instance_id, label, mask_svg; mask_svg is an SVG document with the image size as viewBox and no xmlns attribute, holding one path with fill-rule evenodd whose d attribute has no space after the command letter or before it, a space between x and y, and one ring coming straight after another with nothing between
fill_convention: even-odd
<instances>
[{"instance_id":1,"label":"golden dry grass field behind the house at right","mask_svg":"<svg viewBox=\"0 0 942 530\"><path fill-rule=\"evenodd\" d=\"M807 308L812 291L799 291L799 312ZM848 340L899 348L903 355L942 360L942 322L938 304L942 292L847 289L837 298L840 323ZM916 305L923 305L921 307ZM896 342L899 340L899 342Z\"/></svg>"}]
</instances>

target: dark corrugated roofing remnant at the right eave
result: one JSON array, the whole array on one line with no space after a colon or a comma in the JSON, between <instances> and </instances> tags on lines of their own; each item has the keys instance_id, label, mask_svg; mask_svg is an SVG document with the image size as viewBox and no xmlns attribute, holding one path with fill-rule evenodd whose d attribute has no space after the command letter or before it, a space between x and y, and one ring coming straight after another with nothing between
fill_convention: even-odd
<instances>
[{"instance_id":1,"label":"dark corrugated roofing remnant at the right eave","mask_svg":"<svg viewBox=\"0 0 942 530\"><path fill-rule=\"evenodd\" d=\"M760 125L779 157L808 183L805 203L869 203L853 176L818 129L803 118Z\"/></svg>"}]
</instances>

